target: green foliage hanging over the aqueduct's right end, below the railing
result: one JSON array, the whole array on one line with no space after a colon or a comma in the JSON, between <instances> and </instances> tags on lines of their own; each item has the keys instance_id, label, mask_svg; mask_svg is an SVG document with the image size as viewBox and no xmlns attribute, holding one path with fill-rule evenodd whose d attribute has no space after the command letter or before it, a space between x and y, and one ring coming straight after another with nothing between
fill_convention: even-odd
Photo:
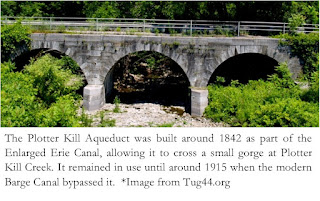
<instances>
[{"instance_id":1,"label":"green foliage hanging over the aqueduct's right end, below the railing","mask_svg":"<svg viewBox=\"0 0 320 201\"><path fill-rule=\"evenodd\" d=\"M303 65L303 73L309 77L319 70L319 33L278 36L284 40L281 45L290 46L293 55L298 56Z\"/></svg>"}]
</instances>

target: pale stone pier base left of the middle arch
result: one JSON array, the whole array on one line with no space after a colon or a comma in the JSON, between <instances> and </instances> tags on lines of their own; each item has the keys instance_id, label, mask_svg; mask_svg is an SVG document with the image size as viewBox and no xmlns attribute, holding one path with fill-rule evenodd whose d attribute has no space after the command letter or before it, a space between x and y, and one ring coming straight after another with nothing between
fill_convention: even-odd
<instances>
[{"instance_id":1,"label":"pale stone pier base left of the middle arch","mask_svg":"<svg viewBox=\"0 0 320 201\"><path fill-rule=\"evenodd\" d=\"M104 85L87 85L83 89L83 106L88 111L100 109L105 104Z\"/></svg>"}]
</instances>

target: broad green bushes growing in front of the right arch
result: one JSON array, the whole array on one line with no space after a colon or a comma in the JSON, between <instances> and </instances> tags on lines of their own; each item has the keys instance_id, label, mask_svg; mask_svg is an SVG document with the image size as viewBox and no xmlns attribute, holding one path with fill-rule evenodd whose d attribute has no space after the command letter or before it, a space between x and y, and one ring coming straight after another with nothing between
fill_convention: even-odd
<instances>
[{"instance_id":1,"label":"broad green bushes growing in front of the right arch","mask_svg":"<svg viewBox=\"0 0 320 201\"><path fill-rule=\"evenodd\" d=\"M314 88L309 89L314 93L308 92L312 100L294 84L286 64L277 67L268 81L233 83L227 87L210 85L205 115L232 126L319 126L319 102L313 97L318 93L317 78L314 79Z\"/></svg>"}]
</instances>

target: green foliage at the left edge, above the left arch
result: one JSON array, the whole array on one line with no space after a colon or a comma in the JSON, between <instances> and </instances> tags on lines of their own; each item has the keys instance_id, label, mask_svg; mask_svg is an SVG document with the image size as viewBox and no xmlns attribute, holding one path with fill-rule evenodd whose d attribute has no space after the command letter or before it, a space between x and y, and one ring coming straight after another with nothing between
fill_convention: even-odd
<instances>
[{"instance_id":1,"label":"green foliage at the left edge, above the left arch","mask_svg":"<svg viewBox=\"0 0 320 201\"><path fill-rule=\"evenodd\" d=\"M2 62L12 59L23 49L29 49L31 39L30 29L22 26L21 22L13 25L1 25L1 60Z\"/></svg>"}]
</instances>

